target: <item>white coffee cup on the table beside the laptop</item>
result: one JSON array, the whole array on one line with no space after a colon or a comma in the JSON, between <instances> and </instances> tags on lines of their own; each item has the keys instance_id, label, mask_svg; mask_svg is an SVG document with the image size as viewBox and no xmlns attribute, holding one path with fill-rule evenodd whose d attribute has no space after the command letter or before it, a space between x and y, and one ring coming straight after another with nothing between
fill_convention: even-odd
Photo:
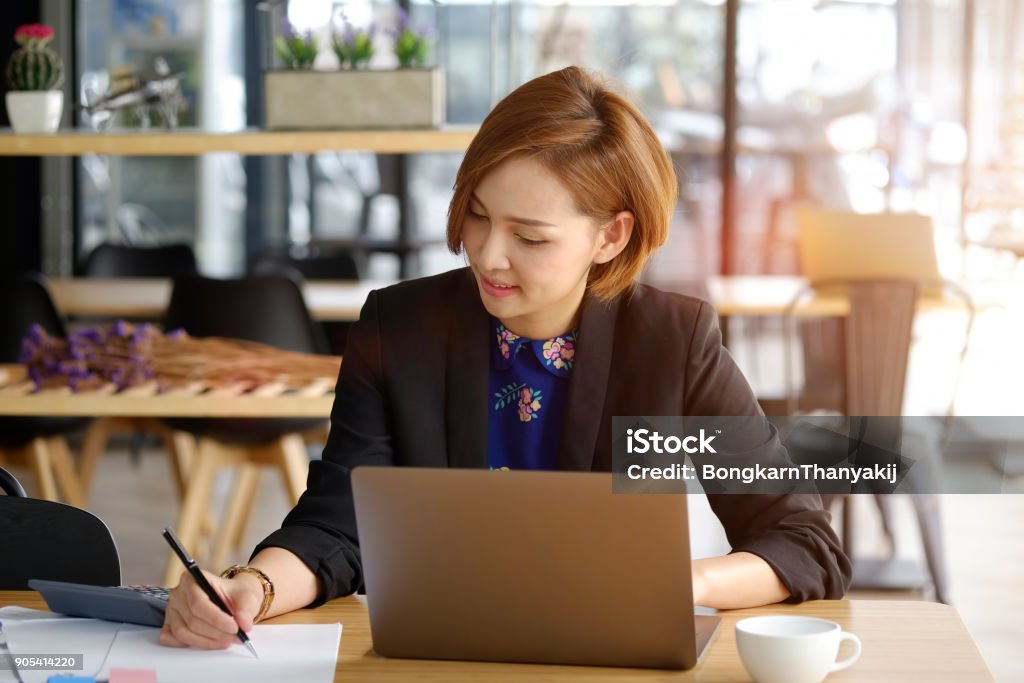
<instances>
[{"instance_id":1,"label":"white coffee cup on the table beside the laptop","mask_svg":"<svg viewBox=\"0 0 1024 683\"><path fill-rule=\"evenodd\" d=\"M839 645L853 654L836 661ZM821 683L860 656L860 639L839 624L811 616L752 616L736 623L739 658L757 683Z\"/></svg>"}]
</instances>

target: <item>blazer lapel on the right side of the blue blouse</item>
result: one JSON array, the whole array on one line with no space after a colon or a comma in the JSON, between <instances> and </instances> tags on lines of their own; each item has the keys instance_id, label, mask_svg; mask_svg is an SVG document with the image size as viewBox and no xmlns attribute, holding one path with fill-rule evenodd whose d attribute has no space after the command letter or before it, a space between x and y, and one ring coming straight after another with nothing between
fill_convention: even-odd
<instances>
[{"instance_id":1,"label":"blazer lapel on the right side of the blue blouse","mask_svg":"<svg viewBox=\"0 0 1024 683\"><path fill-rule=\"evenodd\" d=\"M558 469L591 470L608 389L621 297L605 303L587 294L580 316L579 350L569 376ZM610 434L608 435L610 438Z\"/></svg>"}]
</instances>

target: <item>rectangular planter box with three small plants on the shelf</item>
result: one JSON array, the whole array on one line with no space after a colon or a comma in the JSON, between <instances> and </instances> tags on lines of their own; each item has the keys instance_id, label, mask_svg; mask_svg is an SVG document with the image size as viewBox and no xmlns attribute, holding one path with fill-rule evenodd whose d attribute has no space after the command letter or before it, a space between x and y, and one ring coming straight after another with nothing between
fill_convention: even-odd
<instances>
[{"instance_id":1,"label":"rectangular planter box with three small plants on the shelf","mask_svg":"<svg viewBox=\"0 0 1024 683\"><path fill-rule=\"evenodd\" d=\"M379 33L392 38L397 69L370 68ZM432 29L413 27L404 10L396 27L384 32L359 30L346 19L331 40L339 68L318 71L311 68L315 39L296 35L286 22L274 41L286 69L264 74L267 128L439 127L444 123L444 74L425 67L433 35Z\"/></svg>"}]
</instances>

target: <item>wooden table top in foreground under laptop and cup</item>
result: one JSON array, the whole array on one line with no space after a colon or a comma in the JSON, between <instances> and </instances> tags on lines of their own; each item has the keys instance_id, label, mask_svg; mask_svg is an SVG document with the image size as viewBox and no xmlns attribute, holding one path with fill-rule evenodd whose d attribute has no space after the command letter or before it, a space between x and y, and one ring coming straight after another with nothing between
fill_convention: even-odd
<instances>
[{"instance_id":1,"label":"wooden table top in foreground under laptop and cup","mask_svg":"<svg viewBox=\"0 0 1024 683\"><path fill-rule=\"evenodd\" d=\"M0 605L45 609L37 593L2 591ZM545 680L545 681L749 681L736 652L735 623L761 614L801 614L839 623L863 643L860 659L828 681L991 681L992 676L956 610L934 602L819 600L802 605L770 605L721 612L710 649L691 671L673 672L598 667L554 667L472 661L389 659L373 651L365 600L341 598L316 609L301 609L267 624L341 622L341 650L335 681ZM840 650L847 652L846 647Z\"/></svg>"}]
</instances>

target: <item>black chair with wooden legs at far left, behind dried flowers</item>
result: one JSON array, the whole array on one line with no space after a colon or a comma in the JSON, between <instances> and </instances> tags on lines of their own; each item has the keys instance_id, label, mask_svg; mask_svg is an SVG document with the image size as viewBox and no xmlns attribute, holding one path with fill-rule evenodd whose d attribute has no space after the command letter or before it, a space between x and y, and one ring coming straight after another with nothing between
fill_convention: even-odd
<instances>
[{"instance_id":1,"label":"black chair with wooden legs at far left, behind dried flowers","mask_svg":"<svg viewBox=\"0 0 1024 683\"><path fill-rule=\"evenodd\" d=\"M33 325L48 334L66 336L63 323L42 278L22 273L0 279L0 362L18 362L22 340ZM38 495L49 501L62 498L85 506L85 495L75 473L65 435L84 429L89 418L0 418L0 463L31 468Z\"/></svg>"}]
</instances>

